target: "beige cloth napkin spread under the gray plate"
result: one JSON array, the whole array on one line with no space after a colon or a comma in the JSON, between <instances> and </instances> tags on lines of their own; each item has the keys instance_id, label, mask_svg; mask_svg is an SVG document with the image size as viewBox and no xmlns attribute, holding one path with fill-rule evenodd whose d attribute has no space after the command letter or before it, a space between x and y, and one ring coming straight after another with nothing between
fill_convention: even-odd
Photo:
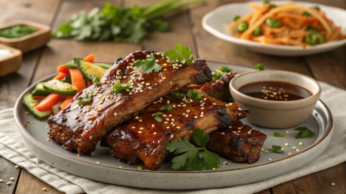
<instances>
[{"instance_id":1,"label":"beige cloth napkin spread under the gray plate","mask_svg":"<svg viewBox=\"0 0 346 194\"><path fill-rule=\"evenodd\" d=\"M25 148L13 118L13 108L0 111L0 156L24 167L29 173L67 194L252 194L346 161L346 91L321 83L321 99L334 117L334 132L326 150L315 161L288 174L265 181L205 190L153 190L112 185L81 178L40 161ZM1 177L0 177L1 178Z\"/></svg>"}]
</instances>

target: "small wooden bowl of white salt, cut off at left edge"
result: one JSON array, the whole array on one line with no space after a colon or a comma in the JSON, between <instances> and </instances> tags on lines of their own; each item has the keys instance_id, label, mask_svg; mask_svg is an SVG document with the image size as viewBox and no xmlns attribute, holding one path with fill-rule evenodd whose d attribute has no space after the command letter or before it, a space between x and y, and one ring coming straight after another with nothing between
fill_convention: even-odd
<instances>
[{"instance_id":1,"label":"small wooden bowl of white salt, cut off at left edge","mask_svg":"<svg viewBox=\"0 0 346 194\"><path fill-rule=\"evenodd\" d=\"M0 44L0 49L7 49L13 53L12 57L0 59L0 76L17 71L21 66L22 52L18 49Z\"/></svg>"}]
</instances>

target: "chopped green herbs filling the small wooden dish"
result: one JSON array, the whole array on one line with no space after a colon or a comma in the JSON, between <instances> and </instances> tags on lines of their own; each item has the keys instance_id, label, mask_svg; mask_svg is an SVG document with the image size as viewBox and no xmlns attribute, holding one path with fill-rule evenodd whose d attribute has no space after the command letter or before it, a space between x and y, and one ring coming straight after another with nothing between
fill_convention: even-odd
<instances>
[{"instance_id":1,"label":"chopped green herbs filling the small wooden dish","mask_svg":"<svg viewBox=\"0 0 346 194\"><path fill-rule=\"evenodd\" d=\"M0 29L0 36L5 38L20 38L36 31L35 28L30 26L17 25L6 29Z\"/></svg>"}]
</instances>

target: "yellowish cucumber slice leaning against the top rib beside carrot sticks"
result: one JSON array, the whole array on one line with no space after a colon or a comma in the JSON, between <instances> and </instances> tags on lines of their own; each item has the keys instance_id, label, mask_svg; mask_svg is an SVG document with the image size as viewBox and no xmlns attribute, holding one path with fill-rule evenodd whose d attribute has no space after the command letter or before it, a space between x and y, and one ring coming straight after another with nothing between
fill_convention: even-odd
<instances>
[{"instance_id":1,"label":"yellowish cucumber slice leaning against the top rib beside carrot sticks","mask_svg":"<svg viewBox=\"0 0 346 194\"><path fill-rule=\"evenodd\" d=\"M83 76L90 81L95 77L101 77L104 72L106 72L106 69L91 62L83 61L83 59L76 59L76 61L77 68L82 72Z\"/></svg>"}]
</instances>

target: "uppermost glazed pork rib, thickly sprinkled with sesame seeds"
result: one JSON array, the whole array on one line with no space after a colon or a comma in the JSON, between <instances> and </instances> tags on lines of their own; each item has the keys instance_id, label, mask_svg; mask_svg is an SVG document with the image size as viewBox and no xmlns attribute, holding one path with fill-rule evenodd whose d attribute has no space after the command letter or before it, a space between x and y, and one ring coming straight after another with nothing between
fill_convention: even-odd
<instances>
[{"instance_id":1,"label":"uppermost glazed pork rib, thickly sprinkled with sesame seeds","mask_svg":"<svg viewBox=\"0 0 346 194\"><path fill-rule=\"evenodd\" d=\"M157 64L162 66L162 70L142 74L133 63L151 54L157 59ZM125 59L117 59L116 64L101 77L101 86L92 85L80 91L73 97L72 103L48 119L51 128L49 137L70 151L89 154L109 130L143 110L157 98L191 83L204 84L212 79L205 60L195 60L190 65L175 64L167 62L163 54L154 51L137 51ZM131 87L112 94L111 87L117 80L130 83ZM78 100L89 92L93 93L92 100L78 106Z\"/></svg>"}]
</instances>

